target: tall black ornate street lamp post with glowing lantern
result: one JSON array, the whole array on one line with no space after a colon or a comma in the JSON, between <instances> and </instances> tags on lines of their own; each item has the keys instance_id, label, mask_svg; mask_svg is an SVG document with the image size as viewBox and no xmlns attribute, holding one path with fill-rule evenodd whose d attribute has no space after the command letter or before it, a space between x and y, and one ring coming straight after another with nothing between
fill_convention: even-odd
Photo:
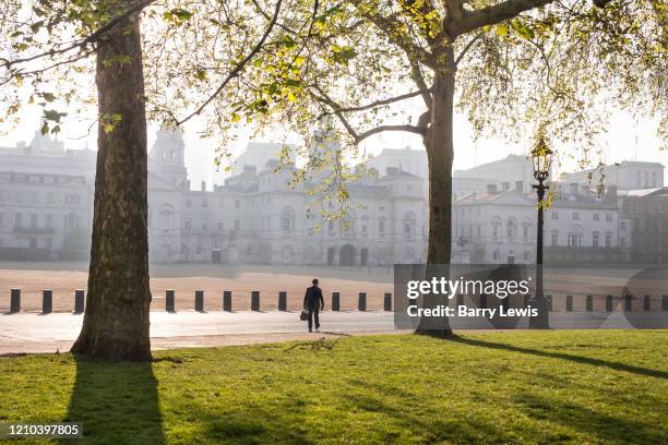
<instances>
[{"instance_id":1,"label":"tall black ornate street lamp post with glowing lantern","mask_svg":"<svg viewBox=\"0 0 668 445\"><path fill-rule=\"evenodd\" d=\"M548 304L542 289L542 215L547 190L545 182L550 175L552 151L548 147L544 136L538 139L532 151L532 160L534 161L534 178L538 181L538 184L534 185L538 195L538 229L536 233L536 292L532 306L538 310L538 315L529 317L529 328L548 329L550 327Z\"/></svg>"}]
</instances>

